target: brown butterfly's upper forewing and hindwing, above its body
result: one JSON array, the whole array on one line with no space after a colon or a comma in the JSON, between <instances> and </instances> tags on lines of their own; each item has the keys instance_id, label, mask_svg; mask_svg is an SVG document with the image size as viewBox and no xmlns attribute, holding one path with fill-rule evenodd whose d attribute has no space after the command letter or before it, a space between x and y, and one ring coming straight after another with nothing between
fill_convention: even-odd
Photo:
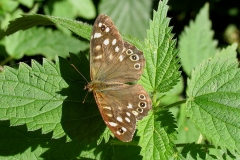
<instances>
[{"instance_id":1,"label":"brown butterfly's upper forewing and hindwing, above its body","mask_svg":"<svg viewBox=\"0 0 240 160\"><path fill-rule=\"evenodd\" d=\"M92 80L121 83L139 80L145 65L143 53L122 40L108 16L97 17L90 43Z\"/></svg>"}]
</instances>

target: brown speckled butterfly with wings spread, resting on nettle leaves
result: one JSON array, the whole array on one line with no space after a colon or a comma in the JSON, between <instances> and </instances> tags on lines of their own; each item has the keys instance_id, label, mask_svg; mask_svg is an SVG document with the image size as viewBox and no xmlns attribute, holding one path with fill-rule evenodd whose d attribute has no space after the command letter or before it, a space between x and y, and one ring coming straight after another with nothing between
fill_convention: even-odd
<instances>
[{"instance_id":1,"label":"brown speckled butterfly with wings spread, resting on nettle leaves","mask_svg":"<svg viewBox=\"0 0 240 160\"><path fill-rule=\"evenodd\" d=\"M136 122L148 114L152 101L140 84L145 66L143 53L123 41L107 15L99 15L90 40L90 76L86 85L93 91L101 116L119 140L129 142Z\"/></svg>"}]
</instances>

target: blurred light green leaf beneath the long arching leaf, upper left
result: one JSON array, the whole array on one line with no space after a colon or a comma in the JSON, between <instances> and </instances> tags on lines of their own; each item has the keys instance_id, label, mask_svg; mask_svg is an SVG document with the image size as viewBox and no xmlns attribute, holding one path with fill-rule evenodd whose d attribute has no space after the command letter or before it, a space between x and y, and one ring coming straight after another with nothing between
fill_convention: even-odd
<instances>
[{"instance_id":1,"label":"blurred light green leaf beneath the long arching leaf, upper left","mask_svg":"<svg viewBox=\"0 0 240 160\"><path fill-rule=\"evenodd\" d=\"M36 54L54 59L56 55L67 57L69 52L78 53L88 48L88 45L59 31L32 28L7 37L5 47L7 53L14 59Z\"/></svg>"}]
</instances>

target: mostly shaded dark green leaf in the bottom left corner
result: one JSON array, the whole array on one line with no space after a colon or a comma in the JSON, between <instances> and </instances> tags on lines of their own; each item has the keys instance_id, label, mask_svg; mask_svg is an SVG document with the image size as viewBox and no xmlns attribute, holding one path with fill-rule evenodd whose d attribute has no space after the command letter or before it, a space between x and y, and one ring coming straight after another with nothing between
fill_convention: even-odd
<instances>
[{"instance_id":1,"label":"mostly shaded dark green leaf in the bottom left corner","mask_svg":"<svg viewBox=\"0 0 240 160\"><path fill-rule=\"evenodd\" d=\"M0 121L0 159L36 159L47 151L51 133L40 130L27 132L26 126L10 127L9 121ZM43 147L45 146L45 147Z\"/></svg>"}]
</instances>

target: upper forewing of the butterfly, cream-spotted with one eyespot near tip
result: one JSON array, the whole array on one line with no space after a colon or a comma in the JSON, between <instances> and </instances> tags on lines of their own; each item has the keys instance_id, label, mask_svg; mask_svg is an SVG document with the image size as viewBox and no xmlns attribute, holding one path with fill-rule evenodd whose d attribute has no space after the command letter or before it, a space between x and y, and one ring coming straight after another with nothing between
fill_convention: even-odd
<instances>
[{"instance_id":1,"label":"upper forewing of the butterfly, cream-spotted with one eyespot near tip","mask_svg":"<svg viewBox=\"0 0 240 160\"><path fill-rule=\"evenodd\" d=\"M90 41L90 66L91 78L103 75L106 64L114 63L114 53L121 53L123 40L111 19L106 15L99 15L93 25Z\"/></svg>"}]
</instances>

